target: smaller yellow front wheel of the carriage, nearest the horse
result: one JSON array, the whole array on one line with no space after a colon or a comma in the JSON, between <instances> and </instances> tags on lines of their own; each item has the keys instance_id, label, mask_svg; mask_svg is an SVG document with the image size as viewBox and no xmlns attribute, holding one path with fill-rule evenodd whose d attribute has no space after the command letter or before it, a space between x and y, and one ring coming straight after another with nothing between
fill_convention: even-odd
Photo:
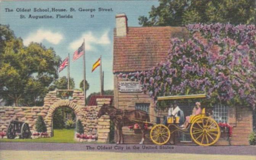
<instances>
[{"instance_id":1,"label":"smaller yellow front wheel of the carriage, nearest the horse","mask_svg":"<svg viewBox=\"0 0 256 160\"><path fill-rule=\"evenodd\" d=\"M150 138L155 144L166 144L171 137L169 128L165 125L155 125L150 130Z\"/></svg>"}]
</instances>

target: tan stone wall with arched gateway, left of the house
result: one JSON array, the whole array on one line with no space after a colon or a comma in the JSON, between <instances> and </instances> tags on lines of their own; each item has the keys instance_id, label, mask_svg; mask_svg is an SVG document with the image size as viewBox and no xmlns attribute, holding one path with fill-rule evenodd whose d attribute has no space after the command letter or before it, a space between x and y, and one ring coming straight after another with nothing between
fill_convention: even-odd
<instances>
[{"instance_id":1,"label":"tan stone wall with arched gateway, left of the house","mask_svg":"<svg viewBox=\"0 0 256 160\"><path fill-rule=\"evenodd\" d=\"M84 98L81 91L72 91L72 99L57 98L56 91L49 92L42 107L0 107L0 132L7 131L11 120L19 120L29 124L32 133L36 132L35 122L43 117L49 136L53 135L53 114L59 107L70 107L84 125L84 134L99 136L100 142L108 141L109 117L102 116L98 124L98 110L103 104L110 104L111 99L97 99L97 106L83 106ZM97 131L97 128L100 128Z\"/></svg>"}]
</instances>

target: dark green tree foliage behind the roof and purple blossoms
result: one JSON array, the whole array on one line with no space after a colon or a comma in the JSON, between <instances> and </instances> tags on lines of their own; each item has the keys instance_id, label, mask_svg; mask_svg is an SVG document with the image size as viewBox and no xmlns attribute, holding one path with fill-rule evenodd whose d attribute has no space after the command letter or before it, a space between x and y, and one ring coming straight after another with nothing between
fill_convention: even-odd
<instances>
[{"instance_id":1,"label":"dark green tree foliage behind the roof and purple blossoms","mask_svg":"<svg viewBox=\"0 0 256 160\"><path fill-rule=\"evenodd\" d=\"M149 18L140 16L143 26L184 26L194 23L255 24L255 0L159 0Z\"/></svg>"}]
</instances>

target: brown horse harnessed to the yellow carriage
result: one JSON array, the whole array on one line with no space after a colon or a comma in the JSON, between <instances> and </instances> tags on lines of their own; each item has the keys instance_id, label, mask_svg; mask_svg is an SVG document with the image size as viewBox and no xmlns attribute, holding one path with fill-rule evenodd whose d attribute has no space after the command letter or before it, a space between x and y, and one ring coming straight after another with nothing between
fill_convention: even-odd
<instances>
[{"instance_id":1,"label":"brown horse harnessed to the yellow carriage","mask_svg":"<svg viewBox=\"0 0 256 160\"><path fill-rule=\"evenodd\" d=\"M143 122L150 122L147 112L142 110L121 110L104 104L99 110L97 117L100 118L105 114L109 115L110 120L112 120L116 126L118 134L118 141L116 141L116 144L124 143L122 127L134 125L135 123L137 123L141 128L142 140L140 141L140 144L143 144L145 139L145 128Z\"/></svg>"}]
</instances>

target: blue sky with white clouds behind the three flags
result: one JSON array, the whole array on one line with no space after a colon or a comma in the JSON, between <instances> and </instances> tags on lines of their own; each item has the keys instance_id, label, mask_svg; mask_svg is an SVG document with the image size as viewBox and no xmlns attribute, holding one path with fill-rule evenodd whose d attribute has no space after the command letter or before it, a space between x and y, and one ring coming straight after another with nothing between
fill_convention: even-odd
<instances>
[{"instance_id":1,"label":"blue sky with white clouds behind the three flags","mask_svg":"<svg viewBox=\"0 0 256 160\"><path fill-rule=\"evenodd\" d=\"M115 15L126 13L128 26L140 26L138 17L151 10L151 6L158 6L158 1L0 1L0 24L9 24L16 37L21 37L24 45L39 42L47 48L53 47L56 54L63 60L82 44L85 38L86 80L90 84L87 96L100 91L99 68L93 73L92 65L102 55L102 70L104 71L104 89L113 89L113 29L116 25ZM69 8L76 12L70 12ZM113 12L98 12L98 8L112 8ZM5 8L13 12L5 12ZM16 8L31 8L31 12L17 12ZM34 12L34 8L65 8L67 12ZM95 8L95 12L79 12L79 8ZM20 15L26 19L20 19ZM53 19L29 19L32 15L52 15ZM70 14L72 19L56 19L56 14ZM94 15L90 18L91 14ZM70 76L74 78L76 88L83 79L82 58L70 63ZM59 76L67 75L67 68Z\"/></svg>"}]
</instances>

